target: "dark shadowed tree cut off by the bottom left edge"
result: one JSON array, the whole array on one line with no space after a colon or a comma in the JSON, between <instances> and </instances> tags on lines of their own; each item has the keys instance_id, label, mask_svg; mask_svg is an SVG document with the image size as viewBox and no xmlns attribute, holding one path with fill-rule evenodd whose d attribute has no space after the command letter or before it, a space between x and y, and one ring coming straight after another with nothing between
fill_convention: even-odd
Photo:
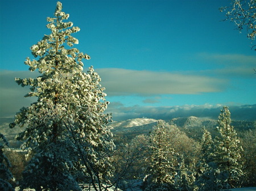
<instances>
[{"instance_id":1,"label":"dark shadowed tree cut off by the bottom left edge","mask_svg":"<svg viewBox=\"0 0 256 191\"><path fill-rule=\"evenodd\" d=\"M0 140L8 146L9 143L5 136L0 133ZM13 179L13 174L10 172L9 167L11 164L5 154L3 153L4 145L0 142L0 190L2 191L14 191L13 186L8 182Z\"/></svg>"}]
</instances>

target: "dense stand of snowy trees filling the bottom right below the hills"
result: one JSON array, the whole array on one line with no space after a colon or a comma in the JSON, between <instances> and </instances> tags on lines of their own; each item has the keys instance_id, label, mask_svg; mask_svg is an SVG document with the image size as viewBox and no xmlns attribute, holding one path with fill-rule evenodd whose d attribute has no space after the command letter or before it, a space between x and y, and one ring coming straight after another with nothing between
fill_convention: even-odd
<instances>
[{"instance_id":1,"label":"dense stand of snowy trees filling the bottom right below the hills","mask_svg":"<svg viewBox=\"0 0 256 191\"><path fill-rule=\"evenodd\" d=\"M143 148L148 147L147 152L142 153L147 165L142 165L140 158L136 168L133 167L133 173L138 173L134 177L141 180L144 177L144 190L221 190L255 186L256 130L243 131L238 137L230 123L229 109L224 107L215 129L216 136L212 138L203 128L203 136L196 141L175 125L160 120L150 135L139 135L148 143L148 146L143 145Z\"/></svg>"}]
</instances>

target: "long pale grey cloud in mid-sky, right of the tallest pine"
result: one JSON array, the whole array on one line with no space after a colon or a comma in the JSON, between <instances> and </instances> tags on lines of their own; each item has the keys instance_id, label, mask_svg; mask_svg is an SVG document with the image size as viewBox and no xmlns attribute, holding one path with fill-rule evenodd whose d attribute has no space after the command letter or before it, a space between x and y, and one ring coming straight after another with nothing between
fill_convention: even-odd
<instances>
[{"instance_id":1,"label":"long pale grey cloud in mid-sky, right of the tallest pine","mask_svg":"<svg viewBox=\"0 0 256 191\"><path fill-rule=\"evenodd\" d=\"M201 94L224 90L227 81L204 75L171 72L127 70L117 68L97 69L109 96Z\"/></svg>"}]
</instances>

